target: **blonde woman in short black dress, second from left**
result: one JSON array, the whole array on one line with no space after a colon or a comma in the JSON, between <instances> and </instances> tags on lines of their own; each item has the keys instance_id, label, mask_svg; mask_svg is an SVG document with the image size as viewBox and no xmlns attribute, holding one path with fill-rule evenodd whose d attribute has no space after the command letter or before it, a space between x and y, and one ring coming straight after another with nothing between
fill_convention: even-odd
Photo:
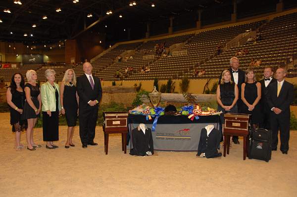
<instances>
[{"instance_id":1,"label":"blonde woman in short black dress, second from left","mask_svg":"<svg viewBox=\"0 0 297 197\"><path fill-rule=\"evenodd\" d=\"M41 97L39 85L36 83L37 74L34 70L29 70L26 73L28 83L25 85L26 102L22 114L22 119L27 119L27 149L35 151L35 148L40 148L41 145L37 145L33 140L33 128L37 122L41 110Z\"/></svg>"}]
</instances>

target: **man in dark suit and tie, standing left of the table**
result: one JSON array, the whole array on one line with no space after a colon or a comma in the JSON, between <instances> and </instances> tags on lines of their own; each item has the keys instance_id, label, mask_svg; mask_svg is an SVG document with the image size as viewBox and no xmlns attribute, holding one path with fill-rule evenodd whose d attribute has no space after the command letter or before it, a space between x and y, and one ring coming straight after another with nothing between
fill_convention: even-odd
<instances>
[{"instance_id":1,"label":"man in dark suit and tie, standing left of the table","mask_svg":"<svg viewBox=\"0 0 297 197\"><path fill-rule=\"evenodd\" d=\"M92 75L92 65L85 62L85 74L77 78L79 95L79 135L83 148L97 146L94 142L99 102L102 97L100 79Z\"/></svg>"}]
</instances>

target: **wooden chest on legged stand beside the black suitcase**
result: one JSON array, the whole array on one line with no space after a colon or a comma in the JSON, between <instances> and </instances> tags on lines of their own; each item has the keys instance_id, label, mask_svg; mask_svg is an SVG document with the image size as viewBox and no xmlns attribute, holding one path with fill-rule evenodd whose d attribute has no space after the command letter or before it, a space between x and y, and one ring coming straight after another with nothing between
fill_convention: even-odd
<instances>
[{"instance_id":1,"label":"wooden chest on legged stand beside the black suitcase","mask_svg":"<svg viewBox=\"0 0 297 197\"><path fill-rule=\"evenodd\" d=\"M230 137L243 136L244 137L244 160L248 156L248 123L249 123L248 114L225 114L225 128L224 128L224 157L227 154L229 155L230 150Z\"/></svg>"}]
</instances>

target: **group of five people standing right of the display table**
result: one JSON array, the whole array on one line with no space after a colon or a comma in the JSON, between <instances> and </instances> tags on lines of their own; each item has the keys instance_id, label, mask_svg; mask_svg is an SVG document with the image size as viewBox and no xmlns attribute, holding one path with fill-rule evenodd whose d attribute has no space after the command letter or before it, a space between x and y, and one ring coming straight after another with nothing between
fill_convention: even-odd
<instances>
[{"instance_id":1,"label":"group of five people standing right of the display table","mask_svg":"<svg viewBox=\"0 0 297 197\"><path fill-rule=\"evenodd\" d=\"M290 103L293 102L293 84L286 81L285 68L278 68L273 77L273 68L264 68L264 79L256 80L252 68L239 69L239 59L232 57L228 70L224 70L217 87L218 111L222 111L224 129L225 113L250 114L253 128L261 127L272 131L272 150L277 150L280 130L283 154L288 154L290 138ZM239 144L238 136L232 141Z\"/></svg>"}]
</instances>

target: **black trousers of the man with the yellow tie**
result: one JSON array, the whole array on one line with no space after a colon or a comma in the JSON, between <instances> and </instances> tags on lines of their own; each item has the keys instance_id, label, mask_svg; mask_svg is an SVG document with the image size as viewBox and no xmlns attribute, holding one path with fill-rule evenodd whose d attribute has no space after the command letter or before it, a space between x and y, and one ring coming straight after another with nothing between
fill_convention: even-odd
<instances>
[{"instance_id":1,"label":"black trousers of the man with the yellow tie","mask_svg":"<svg viewBox=\"0 0 297 197\"><path fill-rule=\"evenodd\" d=\"M278 144L278 131L280 130L281 151L289 150L290 138L290 112L286 116L274 112L270 112L270 128L272 131L272 149L277 148Z\"/></svg>"}]
</instances>

